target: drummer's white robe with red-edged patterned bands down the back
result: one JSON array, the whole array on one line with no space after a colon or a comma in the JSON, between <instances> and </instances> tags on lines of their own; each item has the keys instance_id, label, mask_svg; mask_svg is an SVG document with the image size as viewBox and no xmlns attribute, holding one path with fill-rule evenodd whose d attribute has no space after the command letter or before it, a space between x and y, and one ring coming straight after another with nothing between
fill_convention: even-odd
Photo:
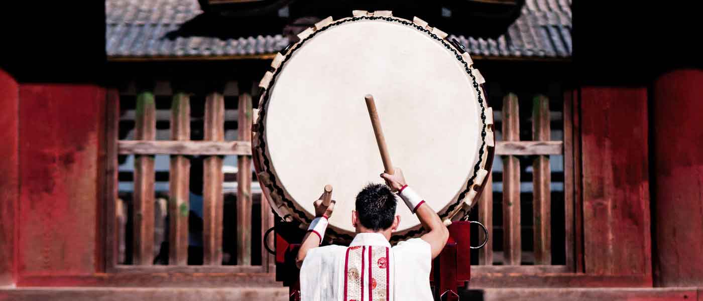
<instances>
[{"instance_id":1,"label":"drummer's white robe with red-edged patterned bands down the back","mask_svg":"<svg viewBox=\"0 0 703 301\"><path fill-rule=\"evenodd\" d=\"M302 301L430 301L431 267L430 244L422 239L391 248L382 234L359 233L349 247L308 251L300 296Z\"/></svg>"}]
</instances>

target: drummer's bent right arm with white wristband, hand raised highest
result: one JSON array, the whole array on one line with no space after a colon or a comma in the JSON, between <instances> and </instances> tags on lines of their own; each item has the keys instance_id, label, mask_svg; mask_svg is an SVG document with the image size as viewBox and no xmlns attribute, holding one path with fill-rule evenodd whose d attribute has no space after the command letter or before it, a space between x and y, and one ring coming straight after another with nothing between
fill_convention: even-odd
<instances>
[{"instance_id":1,"label":"drummer's bent right arm with white wristband, hand raised highest","mask_svg":"<svg viewBox=\"0 0 703 301\"><path fill-rule=\"evenodd\" d=\"M400 168L394 168L394 173L389 175L388 173L382 173L381 178L386 180L386 183L394 192L398 192L398 195L403 199L408 208L410 208L415 215L418 215L420 223L423 228L429 229L430 232L423 235L421 238L427 243L430 243L432 248L432 259L437 257L441 250L446 244L446 240L449 239L449 230L446 229L444 223L441 222L439 215L430 208L425 200L423 200L418 194L416 194L411 187L405 182L405 177L403 176L403 170Z\"/></svg>"}]
</instances>

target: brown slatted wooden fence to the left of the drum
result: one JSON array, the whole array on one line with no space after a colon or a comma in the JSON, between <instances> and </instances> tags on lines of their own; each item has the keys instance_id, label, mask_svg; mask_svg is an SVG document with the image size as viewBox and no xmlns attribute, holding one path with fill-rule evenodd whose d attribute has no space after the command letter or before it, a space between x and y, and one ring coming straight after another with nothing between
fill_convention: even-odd
<instances>
[{"instance_id":1,"label":"brown slatted wooden fence to the left of the drum","mask_svg":"<svg viewBox=\"0 0 703 301\"><path fill-rule=\"evenodd\" d=\"M229 83L230 85L232 83ZM236 83L233 83L236 86ZM134 93L134 91L132 91ZM269 203L260 201L261 215L252 219L251 126L252 93L237 93L236 121L238 140L225 141L225 94L212 91L205 95L202 118L203 140L191 140L191 94L160 91L160 97L171 95L171 114L157 114L153 91L140 91L136 96L134 113L120 113L120 93L110 91L108 101L108 184L112 193L107 200L108 219L106 250L108 272L269 272L273 260L265 248L252 254L252 243L261 244L262 237L252 240L252 222L260 222L261 233L273 226ZM122 95L129 95L123 93ZM233 96L231 93L230 98ZM228 110L227 113L229 113ZM134 140L120 140L120 118L134 120ZM170 140L157 140L157 115L168 119ZM231 120L231 114L227 114ZM155 246L155 155L170 156L168 189L168 265L153 265ZM117 156L134 156L131 194L131 250L125 250L130 220L129 204L120 199ZM190 156L205 156L202 162L202 266L188 265L189 198L191 190ZM238 157L236 193L236 265L223 262L223 157ZM259 225L257 225L259 227ZM158 232L158 231L157 231ZM269 239L272 240L272 239ZM253 242L252 242L253 241ZM271 241L269 241L271 243ZM124 265L125 253L131 251L131 265ZM252 265L252 256L261 258L262 265ZM271 271L272 272L272 271Z\"/></svg>"}]
</instances>

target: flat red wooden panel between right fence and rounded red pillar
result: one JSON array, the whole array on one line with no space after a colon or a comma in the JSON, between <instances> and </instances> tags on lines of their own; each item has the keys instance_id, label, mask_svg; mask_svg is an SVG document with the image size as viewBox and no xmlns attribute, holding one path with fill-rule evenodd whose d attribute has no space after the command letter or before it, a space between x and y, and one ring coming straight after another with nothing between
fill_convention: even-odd
<instances>
[{"instance_id":1,"label":"flat red wooden panel between right fence and rounded red pillar","mask_svg":"<svg viewBox=\"0 0 703 301\"><path fill-rule=\"evenodd\" d=\"M651 276L647 89L582 88L586 273Z\"/></svg>"}]
</instances>

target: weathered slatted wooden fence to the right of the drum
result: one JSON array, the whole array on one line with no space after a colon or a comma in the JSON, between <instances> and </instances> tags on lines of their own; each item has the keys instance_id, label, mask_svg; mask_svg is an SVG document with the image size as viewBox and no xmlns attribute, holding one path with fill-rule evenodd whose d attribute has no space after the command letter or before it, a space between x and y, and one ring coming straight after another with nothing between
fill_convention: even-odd
<instances>
[{"instance_id":1,"label":"weathered slatted wooden fence to the right of the drum","mask_svg":"<svg viewBox=\"0 0 703 301\"><path fill-rule=\"evenodd\" d=\"M574 272L574 187L573 187L573 149L572 149L572 109L570 99L564 101L564 110L550 112L549 99L544 95L535 95L532 102L532 114L528 116L532 123L532 140L520 140L520 103L517 95L508 93L503 97L501 116L496 116L502 123L502 140L496 142L496 156L503 163L502 203L494 208L493 175L488 182L478 203L477 218L493 234L494 209L502 211L502 241L489 239L486 246L479 250L477 272ZM556 114L555 114L556 113ZM552 141L551 122L555 116L563 121L564 139ZM564 159L564 212L553 213L551 199L550 155L562 155ZM520 157L531 158L532 166L532 241L534 249L529 254L529 265L524 265L524 246L522 246L522 229L526 222L521 220L521 169ZM496 158L498 160L498 158ZM496 170L494 170L496 172ZM560 200L555 200L560 201ZM496 203L498 206L498 203ZM563 214L565 225L551 225L553 214ZM552 230L562 227L565 233L565 263L553 264ZM484 233L479 232L479 241L484 240ZM503 254L496 258L494 244L502 243ZM497 260L496 260L497 259ZM498 265L494 265L497 263Z\"/></svg>"}]
</instances>

